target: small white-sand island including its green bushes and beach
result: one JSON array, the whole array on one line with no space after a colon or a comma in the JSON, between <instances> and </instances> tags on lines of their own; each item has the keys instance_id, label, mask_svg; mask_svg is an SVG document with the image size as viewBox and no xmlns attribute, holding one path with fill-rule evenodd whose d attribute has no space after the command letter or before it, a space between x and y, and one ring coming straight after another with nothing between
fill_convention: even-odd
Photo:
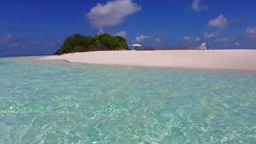
<instances>
[{"instance_id":1,"label":"small white-sand island including its green bushes and beach","mask_svg":"<svg viewBox=\"0 0 256 144\"><path fill-rule=\"evenodd\" d=\"M66 37L61 49L54 54L59 56L38 59L91 64L256 71L256 50L195 50L193 47L179 45L175 50L173 47L143 47L137 51L129 50L124 37L109 34L96 36L73 34Z\"/></svg>"}]
</instances>

